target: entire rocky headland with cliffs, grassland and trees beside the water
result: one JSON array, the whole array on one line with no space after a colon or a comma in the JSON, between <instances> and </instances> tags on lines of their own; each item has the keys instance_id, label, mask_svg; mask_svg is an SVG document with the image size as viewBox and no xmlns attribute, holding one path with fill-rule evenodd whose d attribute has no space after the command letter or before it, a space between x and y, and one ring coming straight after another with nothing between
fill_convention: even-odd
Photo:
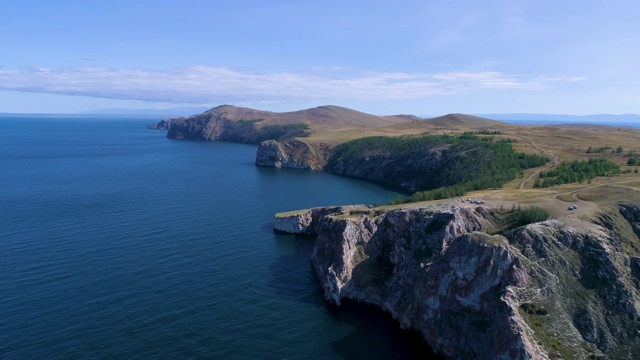
<instances>
[{"instance_id":1,"label":"entire rocky headland with cliffs, grassland and trees beside the water","mask_svg":"<svg viewBox=\"0 0 640 360\"><path fill-rule=\"evenodd\" d=\"M413 194L276 215L275 230L315 237L329 302L373 304L449 358L640 358L637 129L334 106L221 106L166 126L256 144L258 166Z\"/></svg>"}]
</instances>

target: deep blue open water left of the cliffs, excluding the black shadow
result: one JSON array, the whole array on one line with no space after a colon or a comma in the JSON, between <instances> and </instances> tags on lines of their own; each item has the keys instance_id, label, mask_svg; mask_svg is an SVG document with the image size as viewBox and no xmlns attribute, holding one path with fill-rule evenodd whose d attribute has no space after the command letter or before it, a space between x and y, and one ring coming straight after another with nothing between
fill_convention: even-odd
<instances>
[{"instance_id":1,"label":"deep blue open water left of the cliffs, excluding the black shadow","mask_svg":"<svg viewBox=\"0 0 640 360\"><path fill-rule=\"evenodd\" d=\"M0 117L0 359L428 356L380 312L327 306L312 240L271 230L395 193L148 122Z\"/></svg>"}]
</instances>

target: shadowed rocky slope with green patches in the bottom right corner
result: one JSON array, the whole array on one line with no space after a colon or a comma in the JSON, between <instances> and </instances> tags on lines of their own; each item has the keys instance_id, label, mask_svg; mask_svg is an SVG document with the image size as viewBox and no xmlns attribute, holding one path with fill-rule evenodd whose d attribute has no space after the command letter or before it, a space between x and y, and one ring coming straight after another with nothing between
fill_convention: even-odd
<instances>
[{"instance_id":1,"label":"shadowed rocky slope with green patches in the bottom right corner","mask_svg":"<svg viewBox=\"0 0 640 360\"><path fill-rule=\"evenodd\" d=\"M536 279L535 286L519 289L521 301L549 313L529 319L540 337L554 337L550 352L574 352L575 344L583 343L609 358L640 356L640 294L629 266L633 256L618 234L590 223L552 220L517 229L509 238Z\"/></svg>"}]
</instances>

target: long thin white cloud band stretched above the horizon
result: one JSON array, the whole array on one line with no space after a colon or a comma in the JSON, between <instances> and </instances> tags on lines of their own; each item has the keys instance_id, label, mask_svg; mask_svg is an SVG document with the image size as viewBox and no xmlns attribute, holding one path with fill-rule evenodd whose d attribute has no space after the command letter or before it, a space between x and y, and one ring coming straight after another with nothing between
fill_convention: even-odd
<instances>
[{"instance_id":1,"label":"long thin white cloud band stretched above the horizon","mask_svg":"<svg viewBox=\"0 0 640 360\"><path fill-rule=\"evenodd\" d=\"M165 70L102 67L0 70L2 90L198 104L318 99L412 100L495 90L537 91L554 83L579 80L583 78L524 77L496 71L368 72L345 78L344 74L254 73L207 66Z\"/></svg>"}]
</instances>

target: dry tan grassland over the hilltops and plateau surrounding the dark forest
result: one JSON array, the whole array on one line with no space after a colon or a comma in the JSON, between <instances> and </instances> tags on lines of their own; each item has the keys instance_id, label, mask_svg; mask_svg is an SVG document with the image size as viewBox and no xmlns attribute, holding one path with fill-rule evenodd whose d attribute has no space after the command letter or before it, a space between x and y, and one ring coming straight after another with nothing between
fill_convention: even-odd
<instances>
[{"instance_id":1,"label":"dry tan grassland over the hilltops and plateau surrounding the dark forest","mask_svg":"<svg viewBox=\"0 0 640 360\"><path fill-rule=\"evenodd\" d=\"M492 134L496 139L512 139L514 148L525 153L548 156L547 165L526 170L521 177L497 190L477 191L465 195L482 198L486 206L540 206L554 216L589 216L595 210L616 201L637 201L640 166L626 165L630 156L640 156L640 129L627 126L571 125L514 125L464 114L449 114L433 119L411 115L376 116L339 106L320 106L313 109L275 113L249 108L223 106L225 116L236 121L259 119L259 126L303 123L309 126L310 136L299 138L309 144L335 146L365 136L401 136L419 134L455 135L476 132ZM588 153L587 149L601 149ZM314 146L312 146L314 148ZM551 169L563 161L604 158L621 165L623 175L595 178L582 184L573 183L534 189L533 183L541 170ZM631 173L624 174L625 170ZM450 199L449 203L462 203ZM437 203L446 203L438 201ZM467 206L475 206L466 203ZM575 204L578 208L568 211Z\"/></svg>"}]
</instances>

